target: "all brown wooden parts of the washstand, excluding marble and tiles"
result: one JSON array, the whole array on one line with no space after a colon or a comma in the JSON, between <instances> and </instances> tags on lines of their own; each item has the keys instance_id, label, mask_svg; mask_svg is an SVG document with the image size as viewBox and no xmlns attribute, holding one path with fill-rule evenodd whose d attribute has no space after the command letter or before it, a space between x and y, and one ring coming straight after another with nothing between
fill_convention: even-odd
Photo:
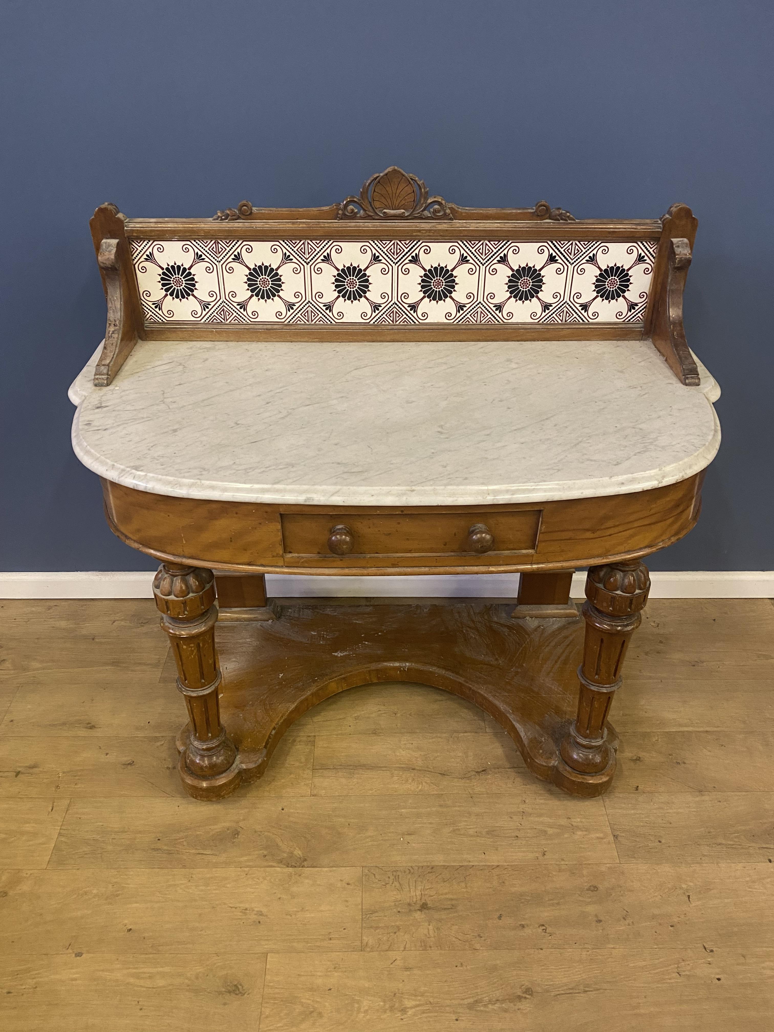
<instances>
[{"instance_id":1,"label":"all brown wooden parts of the washstand, excluding marble and tiles","mask_svg":"<svg viewBox=\"0 0 774 1032\"><path fill-rule=\"evenodd\" d=\"M699 383L682 326L697 220L684 204L660 220L582 220L533 208L466 208L430 196L395 166L358 195L318 208L256 208L214 219L127 219L112 204L91 221L107 298L95 384L106 386L138 338L525 341L652 336L683 384ZM640 325L146 324L134 239L649 240L657 244ZM578 796L615 771L607 717L649 579L641 557L696 523L704 474L652 490L523 505L343 507L167 497L103 481L116 535L156 556L162 626L189 722L180 773L196 799L219 799L259 777L288 727L321 700L376 681L418 681L472 700L520 749L529 769ZM583 621L570 602L588 567ZM215 577L213 571L217 570ZM522 574L518 600L266 599L270 572L323 575ZM216 602L216 588L218 602ZM516 605L514 605L514 601ZM215 643L216 623L225 677ZM583 626L585 624L585 637ZM580 664L580 666L579 666ZM578 686L579 682L579 686ZM222 713L221 713L222 710Z\"/></svg>"}]
</instances>

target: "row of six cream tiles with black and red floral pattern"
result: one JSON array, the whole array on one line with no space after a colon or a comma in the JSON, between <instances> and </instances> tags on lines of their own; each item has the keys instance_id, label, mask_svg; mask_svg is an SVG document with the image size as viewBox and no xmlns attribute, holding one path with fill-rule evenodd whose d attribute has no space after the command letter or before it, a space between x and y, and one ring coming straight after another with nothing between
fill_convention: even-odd
<instances>
[{"instance_id":1,"label":"row of six cream tiles with black and red floral pattern","mask_svg":"<svg viewBox=\"0 0 774 1032\"><path fill-rule=\"evenodd\" d=\"M653 240L141 240L147 322L641 323Z\"/></svg>"}]
</instances>

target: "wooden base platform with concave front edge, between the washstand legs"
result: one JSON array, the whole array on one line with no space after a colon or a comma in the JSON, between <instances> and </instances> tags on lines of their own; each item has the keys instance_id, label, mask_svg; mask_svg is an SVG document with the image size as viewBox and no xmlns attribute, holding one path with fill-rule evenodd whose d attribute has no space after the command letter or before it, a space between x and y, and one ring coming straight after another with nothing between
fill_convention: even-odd
<instances>
[{"instance_id":1,"label":"wooden base platform with concave front edge, between the washstand legs","mask_svg":"<svg viewBox=\"0 0 774 1032\"><path fill-rule=\"evenodd\" d=\"M578 707L583 654L583 620L573 606L298 599L247 616L224 613L217 626L221 714L236 761L204 780L182 756L181 776L197 799L222 798L260 777L297 717L345 688L379 681L428 684L470 700L508 732L537 777L573 795L599 796L610 784L618 741L610 724L612 760L601 773L580 774L559 755ZM189 734L187 725L178 737L181 752Z\"/></svg>"}]
</instances>

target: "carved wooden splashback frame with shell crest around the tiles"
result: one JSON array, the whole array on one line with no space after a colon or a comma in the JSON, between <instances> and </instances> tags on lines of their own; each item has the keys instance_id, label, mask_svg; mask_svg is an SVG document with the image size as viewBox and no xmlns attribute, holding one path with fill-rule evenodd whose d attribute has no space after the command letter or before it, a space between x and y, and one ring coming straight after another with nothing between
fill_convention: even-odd
<instances>
[{"instance_id":1,"label":"carved wooden splashback frame with shell crest around the tiles","mask_svg":"<svg viewBox=\"0 0 774 1032\"><path fill-rule=\"evenodd\" d=\"M376 224L376 225L375 225ZM673 204L659 219L576 220L561 207L538 201L530 208L461 207L429 196L425 184L392 166L367 180L359 193L338 204L314 208L258 208L241 201L212 219L130 219L115 204L102 204L91 221L99 255L104 240L118 241L117 270L108 278L105 350L95 384L109 384L137 338L152 341L638 341L653 343L675 375L685 384L698 383L698 373L682 329L682 290L689 251L672 240L694 246L697 220L685 204ZM503 239L515 241L594 239L657 241L652 285L643 325L569 323L419 326L231 325L215 323L144 323L128 240L135 239ZM109 246L112 249L112 245ZM670 255L674 254L672 260ZM123 313L116 328L116 313Z\"/></svg>"}]
</instances>

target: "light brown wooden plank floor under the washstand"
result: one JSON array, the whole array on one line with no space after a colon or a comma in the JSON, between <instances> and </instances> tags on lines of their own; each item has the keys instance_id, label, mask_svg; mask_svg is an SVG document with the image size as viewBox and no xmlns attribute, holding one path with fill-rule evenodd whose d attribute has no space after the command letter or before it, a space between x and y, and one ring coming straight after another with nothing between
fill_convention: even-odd
<instances>
[{"instance_id":1,"label":"light brown wooden plank floor under the washstand","mask_svg":"<svg viewBox=\"0 0 774 1032\"><path fill-rule=\"evenodd\" d=\"M433 688L182 792L152 602L0 603L3 1032L769 1032L774 606L652 601L604 799Z\"/></svg>"}]
</instances>

